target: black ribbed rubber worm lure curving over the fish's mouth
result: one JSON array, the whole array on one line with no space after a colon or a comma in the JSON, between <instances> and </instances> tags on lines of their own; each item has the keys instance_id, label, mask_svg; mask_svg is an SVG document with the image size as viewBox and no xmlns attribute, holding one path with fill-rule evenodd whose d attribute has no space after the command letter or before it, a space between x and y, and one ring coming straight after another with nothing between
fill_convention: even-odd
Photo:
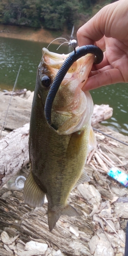
<instances>
[{"instance_id":1,"label":"black ribbed rubber worm lure curving over the fish's mouth","mask_svg":"<svg viewBox=\"0 0 128 256\"><path fill-rule=\"evenodd\" d=\"M54 125L52 125L51 110L52 110L52 104L56 96L56 93L59 89L59 86L63 78L65 77L66 73L68 72L70 67L73 65L73 63L77 59L81 58L82 56L88 53L92 53L96 56L94 61L95 64L99 64L103 60L103 52L99 47L94 45L81 46L78 49L76 49L75 53L74 51L70 53L67 59L63 62L61 68L59 69L59 71L57 72L53 80L53 83L51 85L51 88L49 90L49 93L47 95L46 102L45 102L45 117L46 117L47 123L50 126L52 126L55 130L57 129L56 127L54 127Z\"/></svg>"}]
</instances>

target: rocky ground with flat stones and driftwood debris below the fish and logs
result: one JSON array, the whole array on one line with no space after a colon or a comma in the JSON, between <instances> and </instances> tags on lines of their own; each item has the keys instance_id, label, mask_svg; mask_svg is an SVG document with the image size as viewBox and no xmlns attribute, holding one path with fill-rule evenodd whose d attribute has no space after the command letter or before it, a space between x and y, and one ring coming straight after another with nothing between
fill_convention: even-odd
<instances>
[{"instance_id":1,"label":"rocky ground with flat stones and driftwood debris below the fish and logs","mask_svg":"<svg viewBox=\"0 0 128 256\"><path fill-rule=\"evenodd\" d=\"M26 106L31 104L32 97L33 93L27 92ZM127 145L106 135L125 143L128 137L100 124L95 129L101 132L95 132L97 148L89 154L85 166L91 181L72 190L69 198L78 217L61 216L49 232L47 200L41 208L26 205L23 190L16 190L17 176L0 190L0 256L124 255L128 190L108 172L116 167L128 174L128 150ZM28 165L17 175L26 178Z\"/></svg>"}]
</instances>

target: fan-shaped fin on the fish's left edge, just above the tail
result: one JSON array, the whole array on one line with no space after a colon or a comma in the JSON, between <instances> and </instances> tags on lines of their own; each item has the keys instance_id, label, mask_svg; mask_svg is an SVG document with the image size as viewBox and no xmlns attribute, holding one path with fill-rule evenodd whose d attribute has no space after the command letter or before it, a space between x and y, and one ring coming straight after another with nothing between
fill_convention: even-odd
<instances>
[{"instance_id":1,"label":"fan-shaped fin on the fish's left edge, just above the tail","mask_svg":"<svg viewBox=\"0 0 128 256\"><path fill-rule=\"evenodd\" d=\"M35 183L30 171L24 186L24 201L32 207L41 207L44 204L44 200L45 193Z\"/></svg>"}]
</instances>

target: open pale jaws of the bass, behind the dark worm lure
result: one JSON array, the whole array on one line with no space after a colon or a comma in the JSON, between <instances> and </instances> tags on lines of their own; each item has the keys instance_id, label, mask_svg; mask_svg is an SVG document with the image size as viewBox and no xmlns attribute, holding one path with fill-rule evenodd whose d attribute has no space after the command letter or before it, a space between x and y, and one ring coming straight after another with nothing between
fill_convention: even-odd
<instances>
[{"instance_id":1,"label":"open pale jaws of the bass, behind the dark worm lure","mask_svg":"<svg viewBox=\"0 0 128 256\"><path fill-rule=\"evenodd\" d=\"M53 80L55 79L57 72L62 67L63 62L68 58L70 54L58 54L50 52L48 49L42 49L43 62L49 69L49 73L52 74ZM65 72L65 76L60 84L67 84L71 80L78 80L79 88L82 89L88 79L88 75L95 60L94 54L87 54L77 59L71 67ZM61 78L61 77L60 77ZM60 86L59 84L59 86Z\"/></svg>"}]
</instances>

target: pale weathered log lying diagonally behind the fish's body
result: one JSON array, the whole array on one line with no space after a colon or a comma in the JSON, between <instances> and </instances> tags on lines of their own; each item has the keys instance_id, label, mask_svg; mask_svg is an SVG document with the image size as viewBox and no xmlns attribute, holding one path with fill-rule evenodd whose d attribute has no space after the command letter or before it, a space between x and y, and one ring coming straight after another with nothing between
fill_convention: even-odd
<instances>
[{"instance_id":1,"label":"pale weathered log lying diagonally behind the fish's body","mask_svg":"<svg viewBox=\"0 0 128 256\"><path fill-rule=\"evenodd\" d=\"M95 105L92 124L110 118L113 109L109 105ZM6 135L0 141L0 187L29 162L29 123Z\"/></svg>"}]
</instances>

